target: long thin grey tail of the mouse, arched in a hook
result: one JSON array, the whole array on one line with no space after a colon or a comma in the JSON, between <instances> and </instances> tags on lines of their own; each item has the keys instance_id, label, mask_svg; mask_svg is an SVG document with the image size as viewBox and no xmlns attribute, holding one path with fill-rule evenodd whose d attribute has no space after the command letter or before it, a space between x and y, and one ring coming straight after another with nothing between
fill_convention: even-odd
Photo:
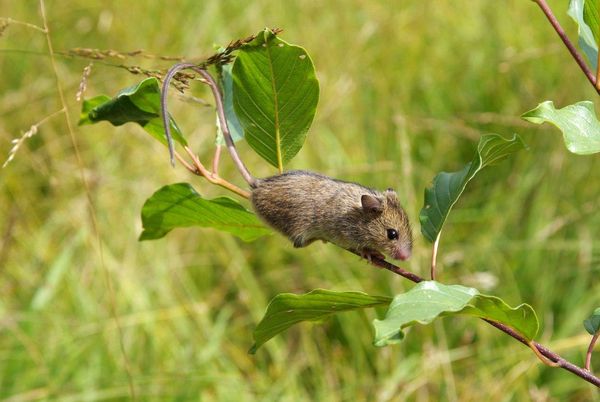
<instances>
[{"instance_id":1,"label":"long thin grey tail of the mouse, arched in a hook","mask_svg":"<svg viewBox=\"0 0 600 402\"><path fill-rule=\"evenodd\" d=\"M171 82L171 79L173 79L175 74L177 74L181 70L186 70L186 69L194 70L195 72L200 74L202 76L202 78L204 78L204 80L206 81L206 84L210 87L210 89L213 93L213 97L215 99L216 108L217 108L217 116L219 118L219 125L221 126L221 131L223 132L223 137L225 138L225 144L227 145L227 149L229 150L229 155L231 155L233 162L235 163L240 174L242 175L244 180L248 183L248 185L250 185L250 187L255 187L256 178L250 174L250 172L248 171L248 168L246 168L246 165L244 165L244 162L242 162L242 160L240 159L240 156L238 155L237 150L235 148L235 144L233 143L233 139L231 138L231 133L229 132L229 126L227 124L227 119L225 118L225 109L223 107L223 97L221 96L221 91L219 90L219 86L215 82L214 78L208 73L208 71L206 71L205 69L203 69L193 63L177 63L177 64L175 64L173 67L171 67L169 69L169 71L167 72L167 75L165 76L164 81L163 81L162 93L161 93L161 97L160 97L160 106L161 106L163 125L165 128L165 135L167 137L167 144L169 146L169 156L171 158L170 159L171 164L173 166L175 165L175 152L174 152L174 146L173 146L173 138L171 136L171 127L170 127L171 124L170 124L169 112L167 109L167 92L169 90L169 84Z\"/></svg>"}]
</instances>

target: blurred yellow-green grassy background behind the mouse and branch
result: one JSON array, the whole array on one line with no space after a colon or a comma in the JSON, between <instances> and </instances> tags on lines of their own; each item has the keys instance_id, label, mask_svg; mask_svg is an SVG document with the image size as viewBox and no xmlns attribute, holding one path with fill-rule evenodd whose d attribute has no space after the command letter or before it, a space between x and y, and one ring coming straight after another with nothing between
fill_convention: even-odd
<instances>
[{"instance_id":1,"label":"blurred yellow-green grassy background behind the mouse and branch","mask_svg":"<svg viewBox=\"0 0 600 402\"><path fill-rule=\"evenodd\" d=\"M282 38L313 58L321 85L306 145L289 168L395 187L416 237L405 267L423 276L423 189L469 161L480 134L519 133L530 149L482 172L450 215L439 279L531 304L539 341L583 364L581 323L600 305L600 163L569 154L557 130L518 116L547 99L562 107L597 95L533 2L46 3L55 51L203 57L265 26L284 28ZM566 3L551 6L575 38ZM43 24L33 0L0 0L0 14ZM7 156L13 138L62 106L43 33L11 24L0 49ZM73 125L89 61L57 56ZM94 62L87 97L142 79L106 63L169 66L143 57ZM190 94L210 100L199 84ZM212 108L175 100L171 108L209 161ZM332 245L297 250L276 235L247 244L181 229L140 243L141 207L159 187L189 181L208 197L224 191L172 169L166 149L133 124L73 131L81 162L60 114L0 170L0 401L600 400L593 386L469 318L412 328L401 345L378 349L377 312L347 313L294 327L248 355L277 293L393 295L412 284ZM274 173L239 148L254 174ZM243 184L227 157L221 173Z\"/></svg>"}]
</instances>

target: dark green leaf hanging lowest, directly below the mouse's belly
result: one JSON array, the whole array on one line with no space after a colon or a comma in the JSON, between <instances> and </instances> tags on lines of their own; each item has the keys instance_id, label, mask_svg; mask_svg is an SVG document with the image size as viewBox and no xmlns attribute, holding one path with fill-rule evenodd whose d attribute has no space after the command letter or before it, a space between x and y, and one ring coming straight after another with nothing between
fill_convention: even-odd
<instances>
[{"instance_id":1,"label":"dark green leaf hanging lowest, directly below the mouse's belly","mask_svg":"<svg viewBox=\"0 0 600 402\"><path fill-rule=\"evenodd\" d=\"M256 353L269 339L302 321L322 321L333 314L367 307L387 306L391 298L370 296L361 292L334 292L316 289L303 295L281 293L275 296L263 319L254 330L254 345L249 353Z\"/></svg>"}]
</instances>

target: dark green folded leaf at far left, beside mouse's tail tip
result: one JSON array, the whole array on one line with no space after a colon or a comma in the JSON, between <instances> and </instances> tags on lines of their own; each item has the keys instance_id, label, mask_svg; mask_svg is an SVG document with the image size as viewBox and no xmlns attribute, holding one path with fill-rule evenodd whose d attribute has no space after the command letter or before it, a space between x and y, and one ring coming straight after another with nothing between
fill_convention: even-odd
<instances>
[{"instance_id":1,"label":"dark green folded leaf at far left, beside mouse's tail tip","mask_svg":"<svg viewBox=\"0 0 600 402\"><path fill-rule=\"evenodd\" d=\"M173 139L187 145L179 127L169 117ZM121 90L114 98L96 96L83 102L79 125L108 121L114 126L138 123L155 139L167 145L160 117L160 89L156 78L147 78L139 84Z\"/></svg>"}]
</instances>

